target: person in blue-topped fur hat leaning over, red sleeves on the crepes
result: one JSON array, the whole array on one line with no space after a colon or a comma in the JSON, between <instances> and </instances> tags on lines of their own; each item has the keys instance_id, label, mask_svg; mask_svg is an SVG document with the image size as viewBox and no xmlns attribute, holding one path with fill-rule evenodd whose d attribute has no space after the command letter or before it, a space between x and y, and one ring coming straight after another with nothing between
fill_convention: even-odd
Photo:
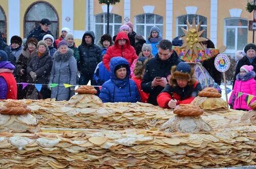
<instances>
[{"instance_id":1,"label":"person in blue-topped fur hat leaning over, red sleeves on the crepes","mask_svg":"<svg viewBox=\"0 0 256 169\"><path fill-rule=\"evenodd\" d=\"M157 97L162 108L175 108L178 104L189 104L202 90L201 84L194 78L194 69L186 62L173 66L169 83Z\"/></svg>"}]
</instances>

